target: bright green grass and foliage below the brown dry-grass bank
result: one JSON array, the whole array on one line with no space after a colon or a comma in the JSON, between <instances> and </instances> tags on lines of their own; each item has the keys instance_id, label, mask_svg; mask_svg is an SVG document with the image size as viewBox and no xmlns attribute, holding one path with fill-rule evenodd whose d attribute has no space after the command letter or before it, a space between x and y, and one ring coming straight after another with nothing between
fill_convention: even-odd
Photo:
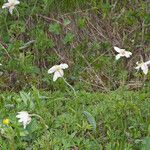
<instances>
[{"instance_id":1,"label":"bright green grass and foliage below the brown dry-grass bank","mask_svg":"<svg viewBox=\"0 0 150 150\"><path fill-rule=\"evenodd\" d=\"M135 150L149 136L150 94L144 91L118 90L110 93L30 92L1 94L1 117L10 124L1 124L1 147L5 149L69 150ZM26 110L40 115L33 117L26 130L15 118ZM96 121L96 131L83 112ZM48 125L48 129L44 124ZM3 131L3 132L2 132Z\"/></svg>"}]
</instances>

